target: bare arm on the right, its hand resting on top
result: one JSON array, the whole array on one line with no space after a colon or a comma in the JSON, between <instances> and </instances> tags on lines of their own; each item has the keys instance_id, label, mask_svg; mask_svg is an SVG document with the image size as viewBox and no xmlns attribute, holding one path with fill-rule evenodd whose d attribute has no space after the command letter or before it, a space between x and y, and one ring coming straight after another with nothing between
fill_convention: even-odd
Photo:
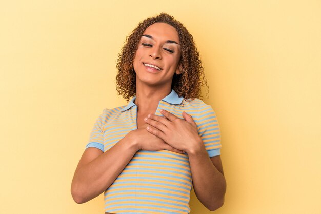
<instances>
[{"instance_id":1,"label":"bare arm on the right, its hand resting on top","mask_svg":"<svg viewBox=\"0 0 321 214\"><path fill-rule=\"evenodd\" d=\"M190 115L183 112L185 120L182 120L166 110L160 112L166 118L149 115L146 122L151 126L147 130L169 145L187 152L198 200L209 210L218 209L224 203L226 191L220 156L209 158Z\"/></svg>"}]
</instances>

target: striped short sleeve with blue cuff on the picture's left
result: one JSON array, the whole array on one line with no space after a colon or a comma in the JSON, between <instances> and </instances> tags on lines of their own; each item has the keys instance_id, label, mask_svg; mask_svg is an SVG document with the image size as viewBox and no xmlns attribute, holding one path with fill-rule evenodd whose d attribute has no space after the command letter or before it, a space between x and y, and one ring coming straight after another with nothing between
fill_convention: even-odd
<instances>
[{"instance_id":1,"label":"striped short sleeve with blue cuff on the picture's left","mask_svg":"<svg viewBox=\"0 0 321 214\"><path fill-rule=\"evenodd\" d=\"M103 126L106 123L106 113L108 109L104 109L103 113L99 115L94 127L92 128L89 142L86 145L86 149L89 147L95 147L104 152L104 129Z\"/></svg>"}]
</instances>

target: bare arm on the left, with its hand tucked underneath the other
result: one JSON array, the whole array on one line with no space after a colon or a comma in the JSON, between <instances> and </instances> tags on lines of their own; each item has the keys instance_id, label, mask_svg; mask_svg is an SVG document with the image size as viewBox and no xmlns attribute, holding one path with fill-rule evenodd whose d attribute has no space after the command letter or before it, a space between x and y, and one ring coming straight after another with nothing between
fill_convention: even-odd
<instances>
[{"instance_id":1,"label":"bare arm on the left, with its hand tucked underneath the other","mask_svg":"<svg viewBox=\"0 0 321 214\"><path fill-rule=\"evenodd\" d=\"M78 163L71 183L74 201L85 203L104 192L139 149L149 151L167 149L182 152L147 132L146 127L130 131L105 153L97 148L87 148Z\"/></svg>"}]
</instances>

